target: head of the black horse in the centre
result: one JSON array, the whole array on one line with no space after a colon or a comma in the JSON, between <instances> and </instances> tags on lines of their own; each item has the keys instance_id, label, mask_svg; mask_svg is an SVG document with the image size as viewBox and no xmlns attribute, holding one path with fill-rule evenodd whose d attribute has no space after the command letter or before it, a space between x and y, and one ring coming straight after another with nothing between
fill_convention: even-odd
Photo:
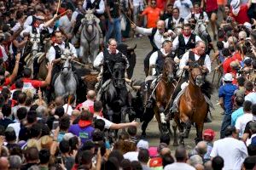
<instances>
[{"instance_id":1,"label":"head of the black horse in the centre","mask_svg":"<svg viewBox=\"0 0 256 170\"><path fill-rule=\"evenodd\" d=\"M113 65L113 81L116 88L125 87L125 69L125 64L122 62Z\"/></svg>"}]
</instances>

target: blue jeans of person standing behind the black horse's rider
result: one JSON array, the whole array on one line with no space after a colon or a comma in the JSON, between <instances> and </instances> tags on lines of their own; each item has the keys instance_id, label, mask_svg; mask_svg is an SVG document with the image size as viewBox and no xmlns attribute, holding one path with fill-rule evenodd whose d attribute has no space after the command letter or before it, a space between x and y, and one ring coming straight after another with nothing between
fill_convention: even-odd
<instances>
[{"instance_id":1,"label":"blue jeans of person standing behind the black horse's rider","mask_svg":"<svg viewBox=\"0 0 256 170\"><path fill-rule=\"evenodd\" d=\"M108 31L106 33L106 42L108 43L108 39L111 37L112 32L114 30L114 38L116 41L121 43L122 34L121 34L121 18L113 18L113 23L108 19Z\"/></svg>"}]
</instances>

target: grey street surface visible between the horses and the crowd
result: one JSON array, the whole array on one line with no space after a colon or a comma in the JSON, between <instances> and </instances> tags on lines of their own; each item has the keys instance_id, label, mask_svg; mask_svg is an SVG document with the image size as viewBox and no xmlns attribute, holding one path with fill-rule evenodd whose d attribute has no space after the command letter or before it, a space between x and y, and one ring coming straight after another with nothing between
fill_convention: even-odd
<instances>
[{"instance_id":1,"label":"grey street surface visible between the horses and the crowd","mask_svg":"<svg viewBox=\"0 0 256 170\"><path fill-rule=\"evenodd\" d=\"M133 47L135 44L137 44L136 54L137 54L137 64L135 67L133 78L137 80L143 80L145 78L144 71L143 71L143 59L148 54L148 52L151 50L151 45L148 40L148 37L141 37L141 38L131 38L128 39L126 44ZM212 73L208 76L209 80L212 81ZM216 77L216 76L215 76ZM218 87L214 87L214 94L212 95L212 104L216 105L218 103ZM219 138L219 131L220 131L220 125L221 125L221 112L223 110L219 106L215 106L215 110L212 111L212 122L206 123L204 129L212 128L216 132L216 139ZM138 131L138 137L141 135L141 128ZM149 141L149 144L152 146L156 146L159 144L160 139L160 132L158 129L157 122L155 119L148 124L147 129L147 137L146 139ZM185 139L186 147L193 148L195 146L195 127L191 128L189 139ZM175 148L172 146L173 139L171 139L170 147L172 150L175 150Z\"/></svg>"}]
</instances>

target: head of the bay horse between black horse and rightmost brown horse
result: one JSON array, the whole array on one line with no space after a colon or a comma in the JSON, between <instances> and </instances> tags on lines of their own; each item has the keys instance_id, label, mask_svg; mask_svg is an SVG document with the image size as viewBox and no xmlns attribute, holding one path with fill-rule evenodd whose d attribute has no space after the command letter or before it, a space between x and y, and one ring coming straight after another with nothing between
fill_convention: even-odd
<instances>
[{"instance_id":1,"label":"head of the bay horse between black horse and rightmost brown horse","mask_svg":"<svg viewBox=\"0 0 256 170\"><path fill-rule=\"evenodd\" d=\"M167 78L168 82L173 82L175 79L174 72L175 72L175 62L173 59L166 57L164 68L163 68L163 75Z\"/></svg>"}]
</instances>

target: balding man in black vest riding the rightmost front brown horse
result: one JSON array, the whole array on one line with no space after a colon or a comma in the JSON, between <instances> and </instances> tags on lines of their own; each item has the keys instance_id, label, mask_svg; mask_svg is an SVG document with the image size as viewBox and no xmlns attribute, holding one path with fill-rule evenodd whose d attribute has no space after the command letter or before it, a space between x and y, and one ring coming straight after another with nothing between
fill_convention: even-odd
<instances>
[{"instance_id":1,"label":"balding man in black vest riding the rightmost front brown horse","mask_svg":"<svg viewBox=\"0 0 256 170\"><path fill-rule=\"evenodd\" d=\"M186 86L186 82L189 81L189 68L192 65L201 66L201 70L205 73L205 76L211 72L211 59L208 54L205 54L206 44L203 41L198 41L195 44L195 48L189 50L183 54L182 59L180 59L179 71L177 71L177 76L181 77L180 82L177 84L175 91L172 94L172 99L170 102L171 106L171 118L174 116L174 113L177 112L177 104L174 104L174 101L177 101L176 98L180 97L179 92L182 90L182 85ZM185 83L184 83L185 82ZM184 83L184 84L183 84ZM206 94L210 98L210 94Z\"/></svg>"}]
</instances>

